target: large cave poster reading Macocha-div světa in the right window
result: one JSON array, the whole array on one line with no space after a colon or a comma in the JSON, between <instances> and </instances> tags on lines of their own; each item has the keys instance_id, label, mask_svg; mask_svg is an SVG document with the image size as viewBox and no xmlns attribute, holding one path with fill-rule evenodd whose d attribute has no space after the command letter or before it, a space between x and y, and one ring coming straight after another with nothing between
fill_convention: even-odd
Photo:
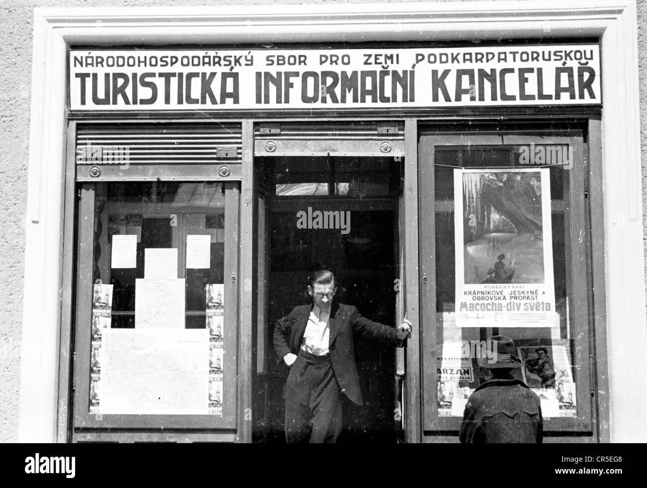
<instances>
[{"instance_id":1,"label":"large cave poster reading Macocha-div sv\u011bta in the right window","mask_svg":"<svg viewBox=\"0 0 647 488\"><path fill-rule=\"evenodd\" d=\"M454 170L456 325L553 327L547 168Z\"/></svg>"}]
</instances>

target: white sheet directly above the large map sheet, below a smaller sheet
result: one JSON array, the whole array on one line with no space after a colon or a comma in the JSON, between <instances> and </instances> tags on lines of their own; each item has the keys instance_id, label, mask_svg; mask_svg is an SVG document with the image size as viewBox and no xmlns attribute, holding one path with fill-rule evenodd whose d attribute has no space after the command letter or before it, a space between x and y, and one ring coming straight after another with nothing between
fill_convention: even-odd
<instances>
[{"instance_id":1,"label":"white sheet directly above the large map sheet, below a smaller sheet","mask_svg":"<svg viewBox=\"0 0 647 488\"><path fill-rule=\"evenodd\" d=\"M135 280L135 328L184 329L184 278Z\"/></svg>"}]
</instances>

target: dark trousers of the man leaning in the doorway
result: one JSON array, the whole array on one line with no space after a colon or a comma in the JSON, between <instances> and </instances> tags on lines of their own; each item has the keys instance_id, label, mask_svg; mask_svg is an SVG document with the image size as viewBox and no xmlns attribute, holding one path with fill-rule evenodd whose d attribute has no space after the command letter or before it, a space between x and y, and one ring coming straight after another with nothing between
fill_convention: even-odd
<instances>
[{"instance_id":1,"label":"dark trousers of the man leaning in the doorway","mask_svg":"<svg viewBox=\"0 0 647 488\"><path fill-rule=\"evenodd\" d=\"M285 384L287 441L336 442L342 432L340 395L330 356L299 351Z\"/></svg>"}]
</instances>

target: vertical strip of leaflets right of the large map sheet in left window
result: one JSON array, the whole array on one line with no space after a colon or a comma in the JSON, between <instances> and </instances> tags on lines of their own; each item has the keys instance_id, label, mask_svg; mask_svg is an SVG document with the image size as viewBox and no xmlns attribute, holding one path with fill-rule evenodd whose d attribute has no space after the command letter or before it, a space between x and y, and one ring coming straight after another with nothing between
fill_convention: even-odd
<instances>
[{"instance_id":1,"label":"vertical strip of leaflets right of the large map sheet in left window","mask_svg":"<svg viewBox=\"0 0 647 488\"><path fill-rule=\"evenodd\" d=\"M206 328L209 331L209 414L223 415L224 284L206 285Z\"/></svg>"}]
</instances>

